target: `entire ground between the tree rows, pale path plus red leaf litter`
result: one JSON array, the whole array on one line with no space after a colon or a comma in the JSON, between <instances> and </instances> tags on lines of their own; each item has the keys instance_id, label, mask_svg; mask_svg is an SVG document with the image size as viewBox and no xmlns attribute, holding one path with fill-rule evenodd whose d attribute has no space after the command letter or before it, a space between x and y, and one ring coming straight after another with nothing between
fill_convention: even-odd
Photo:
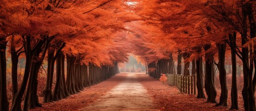
<instances>
[{"instance_id":1,"label":"entire ground between the tree rows, pale path plus red leaf litter","mask_svg":"<svg viewBox=\"0 0 256 111\"><path fill-rule=\"evenodd\" d=\"M220 91L217 88L217 101ZM230 93L228 93L230 95ZM239 108L243 111L241 94ZM229 98L230 99L230 98ZM194 94L180 93L142 73L121 73L79 94L32 111L228 111L229 107L206 103ZM230 106L230 100L228 100Z\"/></svg>"}]
</instances>

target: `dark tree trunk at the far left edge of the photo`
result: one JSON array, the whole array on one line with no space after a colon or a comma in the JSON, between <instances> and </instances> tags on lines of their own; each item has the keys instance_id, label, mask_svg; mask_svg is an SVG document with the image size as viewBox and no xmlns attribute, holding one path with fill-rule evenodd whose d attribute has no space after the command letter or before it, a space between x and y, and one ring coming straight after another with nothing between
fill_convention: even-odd
<instances>
[{"instance_id":1,"label":"dark tree trunk at the far left edge of the photo","mask_svg":"<svg viewBox=\"0 0 256 111\"><path fill-rule=\"evenodd\" d=\"M6 83L6 38L0 38L0 111L9 110Z\"/></svg>"}]
</instances>

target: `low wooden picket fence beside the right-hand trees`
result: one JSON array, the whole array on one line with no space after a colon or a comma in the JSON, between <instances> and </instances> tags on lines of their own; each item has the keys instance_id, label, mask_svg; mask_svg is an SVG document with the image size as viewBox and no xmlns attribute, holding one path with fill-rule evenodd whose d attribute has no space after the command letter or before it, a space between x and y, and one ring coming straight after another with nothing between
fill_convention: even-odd
<instances>
[{"instance_id":1,"label":"low wooden picket fence beside the right-hand trees","mask_svg":"<svg viewBox=\"0 0 256 111\"><path fill-rule=\"evenodd\" d=\"M196 75L166 74L170 86L176 86L181 93L196 94Z\"/></svg>"}]
</instances>

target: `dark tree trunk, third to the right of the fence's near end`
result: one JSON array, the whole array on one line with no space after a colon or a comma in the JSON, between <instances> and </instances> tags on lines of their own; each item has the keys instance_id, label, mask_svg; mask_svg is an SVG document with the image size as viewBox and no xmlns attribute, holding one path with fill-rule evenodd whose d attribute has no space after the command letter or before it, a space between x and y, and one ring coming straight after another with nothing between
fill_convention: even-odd
<instances>
[{"instance_id":1,"label":"dark tree trunk, third to the right of the fence's near end","mask_svg":"<svg viewBox=\"0 0 256 111\"><path fill-rule=\"evenodd\" d=\"M226 69L225 69L225 53L226 53L226 43L218 43L218 52L219 52L219 63L217 65L219 69L220 83L221 83L221 96L220 102L217 104L221 106L228 106L228 88L226 80Z\"/></svg>"}]
</instances>

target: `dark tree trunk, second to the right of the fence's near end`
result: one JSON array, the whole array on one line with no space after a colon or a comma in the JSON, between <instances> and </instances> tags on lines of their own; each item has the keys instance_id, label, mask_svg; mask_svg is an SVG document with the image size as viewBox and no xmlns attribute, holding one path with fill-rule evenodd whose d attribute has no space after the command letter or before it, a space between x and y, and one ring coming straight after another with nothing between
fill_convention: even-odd
<instances>
[{"instance_id":1,"label":"dark tree trunk, second to the right of the fence's near end","mask_svg":"<svg viewBox=\"0 0 256 111\"><path fill-rule=\"evenodd\" d=\"M208 95L207 102L217 103L216 102L216 90L214 86L214 63L213 63L213 54L207 52L211 48L211 44L205 44L204 49L205 53L205 90Z\"/></svg>"}]
</instances>

